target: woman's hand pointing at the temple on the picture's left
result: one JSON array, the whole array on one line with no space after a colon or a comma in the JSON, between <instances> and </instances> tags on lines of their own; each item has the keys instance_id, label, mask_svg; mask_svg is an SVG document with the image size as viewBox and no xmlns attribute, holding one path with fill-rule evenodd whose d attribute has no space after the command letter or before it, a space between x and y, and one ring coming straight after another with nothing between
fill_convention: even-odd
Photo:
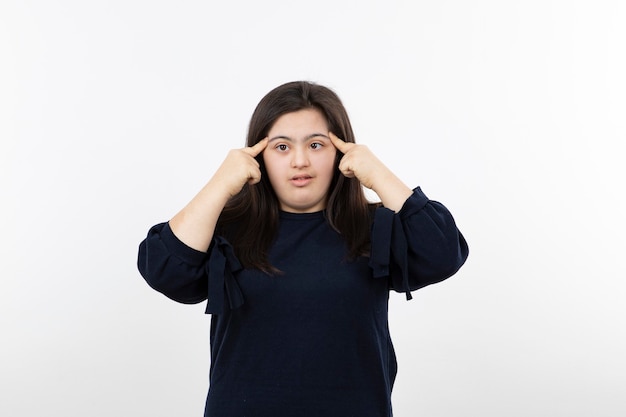
<instances>
[{"instance_id":1,"label":"woman's hand pointing at the temple on the picture's left","mask_svg":"<svg viewBox=\"0 0 626 417\"><path fill-rule=\"evenodd\" d=\"M261 181L261 170L255 157L263 152L267 142L268 138L265 138L254 146L228 152L213 180L221 183L231 197L239 193L246 183Z\"/></svg>"}]
</instances>

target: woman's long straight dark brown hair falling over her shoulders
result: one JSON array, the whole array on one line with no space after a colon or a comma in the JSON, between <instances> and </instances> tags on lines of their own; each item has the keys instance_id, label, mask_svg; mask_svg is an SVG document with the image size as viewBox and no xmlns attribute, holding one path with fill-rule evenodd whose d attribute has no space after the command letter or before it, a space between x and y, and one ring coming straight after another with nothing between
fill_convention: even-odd
<instances>
[{"instance_id":1,"label":"woman's long straight dark brown hair falling over her shoulders","mask_svg":"<svg viewBox=\"0 0 626 417\"><path fill-rule=\"evenodd\" d=\"M339 97L327 87L294 81L276 87L261 99L250 119L246 146L253 146L265 138L280 116L304 109L319 110L331 132L346 142L355 142L348 114ZM354 258L369 253L372 205L367 201L359 181L339 172L342 156L337 151L326 219L346 242L348 257ZM218 220L216 232L228 236L244 267L276 273L278 270L268 261L268 251L278 230L280 205L262 154L256 160L260 164L261 181L254 185L246 184L228 201Z\"/></svg>"}]
</instances>

